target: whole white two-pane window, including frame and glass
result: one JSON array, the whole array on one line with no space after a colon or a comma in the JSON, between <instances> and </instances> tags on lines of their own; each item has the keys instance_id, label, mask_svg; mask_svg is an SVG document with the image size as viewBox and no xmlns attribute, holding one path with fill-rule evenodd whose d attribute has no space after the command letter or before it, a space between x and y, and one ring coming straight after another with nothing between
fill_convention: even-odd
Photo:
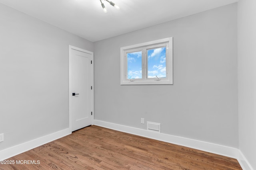
<instances>
[{"instance_id":1,"label":"whole white two-pane window, including frame and glass","mask_svg":"<svg viewBox=\"0 0 256 170\"><path fill-rule=\"evenodd\" d=\"M172 84L172 37L121 48L121 85Z\"/></svg>"}]
</instances>

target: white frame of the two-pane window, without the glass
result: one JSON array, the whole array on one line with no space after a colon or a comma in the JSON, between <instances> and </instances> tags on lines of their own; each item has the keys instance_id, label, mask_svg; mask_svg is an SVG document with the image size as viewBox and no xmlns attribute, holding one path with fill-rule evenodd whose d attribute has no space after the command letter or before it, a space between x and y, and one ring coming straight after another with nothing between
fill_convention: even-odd
<instances>
[{"instance_id":1,"label":"white frame of the two-pane window, without the glass","mask_svg":"<svg viewBox=\"0 0 256 170\"><path fill-rule=\"evenodd\" d=\"M120 48L120 85L135 85L135 84L173 84L173 47L172 37L130 45ZM148 77L148 51L166 47L166 78L147 78ZM127 78L127 53L142 51L142 78L128 79Z\"/></svg>"}]
</instances>

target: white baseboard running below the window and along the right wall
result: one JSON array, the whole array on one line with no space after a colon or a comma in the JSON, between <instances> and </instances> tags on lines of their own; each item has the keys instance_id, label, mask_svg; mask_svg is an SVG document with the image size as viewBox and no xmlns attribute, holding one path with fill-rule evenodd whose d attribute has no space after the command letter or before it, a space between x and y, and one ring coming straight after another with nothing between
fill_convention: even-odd
<instances>
[{"instance_id":1,"label":"white baseboard running below the window and along the right wall","mask_svg":"<svg viewBox=\"0 0 256 170\"><path fill-rule=\"evenodd\" d=\"M211 153L219 154L222 156L228 156L230 158L237 159L243 170L253 170L252 166L250 166L250 164L248 163L248 161L246 160L242 152L236 148L218 145L214 143L208 143L204 141L198 141L194 139L188 139L184 137L178 137L174 135L168 135L164 133L156 133L156 132L147 131L144 129L118 125L115 123L109 123L109 122L100 121L100 120L94 120L94 125L97 125L100 127L106 127L108 129L113 129L117 131L122 131L125 133L130 133L133 135L147 137L150 139L156 139L158 141L164 141L167 143L181 145L184 147L203 150L206 152L211 152Z\"/></svg>"}]
</instances>

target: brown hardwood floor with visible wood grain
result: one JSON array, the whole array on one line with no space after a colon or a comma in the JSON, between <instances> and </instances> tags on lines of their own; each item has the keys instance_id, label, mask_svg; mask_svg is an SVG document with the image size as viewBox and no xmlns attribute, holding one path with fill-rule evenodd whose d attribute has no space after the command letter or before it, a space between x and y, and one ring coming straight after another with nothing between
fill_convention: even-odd
<instances>
[{"instance_id":1,"label":"brown hardwood floor with visible wood grain","mask_svg":"<svg viewBox=\"0 0 256 170\"><path fill-rule=\"evenodd\" d=\"M242 170L233 158L95 125L6 161L0 170Z\"/></svg>"}]
</instances>

